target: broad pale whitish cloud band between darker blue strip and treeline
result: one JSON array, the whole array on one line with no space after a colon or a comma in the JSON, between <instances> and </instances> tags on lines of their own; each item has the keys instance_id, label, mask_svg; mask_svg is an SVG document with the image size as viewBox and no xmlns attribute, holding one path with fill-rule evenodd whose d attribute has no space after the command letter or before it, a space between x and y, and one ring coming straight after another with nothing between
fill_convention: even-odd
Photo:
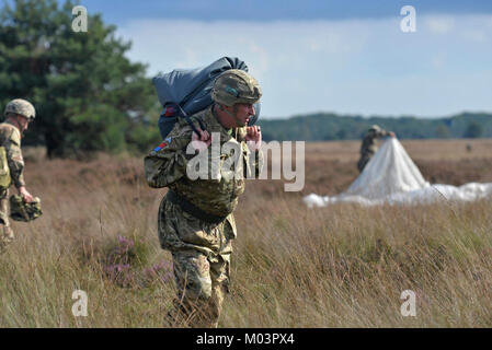
<instances>
[{"instance_id":1,"label":"broad pale whitish cloud band between darker blue strip and treeline","mask_svg":"<svg viewBox=\"0 0 492 350\"><path fill-rule=\"evenodd\" d=\"M491 16L417 15L416 21L416 33L402 33L399 18L136 20L118 33L133 40L130 58L148 62L151 75L206 66L222 56L243 59L262 85L262 114L268 117L317 110L438 116L460 112L459 106L492 109L492 79L484 80L491 77ZM467 94L446 85L458 77L487 91ZM439 90L446 91L445 100ZM407 103L409 94L412 103Z\"/></svg>"}]
</instances>

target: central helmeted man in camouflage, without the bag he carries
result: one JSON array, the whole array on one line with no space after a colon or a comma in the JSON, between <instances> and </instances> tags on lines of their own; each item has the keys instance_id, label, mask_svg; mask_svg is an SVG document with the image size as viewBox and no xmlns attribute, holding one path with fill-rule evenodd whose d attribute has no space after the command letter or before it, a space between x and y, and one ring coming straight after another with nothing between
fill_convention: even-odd
<instances>
[{"instance_id":1,"label":"central helmeted man in camouflage, without the bag he carries","mask_svg":"<svg viewBox=\"0 0 492 350\"><path fill-rule=\"evenodd\" d=\"M245 185L244 178L236 175L254 172L258 176L263 162L260 127L247 127L261 95L256 80L247 72L224 72L214 83L214 105L192 116L192 120L202 120L205 130L196 125L197 135L180 118L164 142L145 158L149 186L169 187L159 208L158 230L161 247L172 254L178 296L165 317L167 326L218 325L224 296L229 292L230 256L237 236L232 212ZM220 165L233 156L225 144L233 145L242 161L232 177L192 180L186 165L201 154L210 164L213 152L204 151L210 149L213 133L220 138ZM190 142L198 155L186 154Z\"/></svg>"}]
</instances>

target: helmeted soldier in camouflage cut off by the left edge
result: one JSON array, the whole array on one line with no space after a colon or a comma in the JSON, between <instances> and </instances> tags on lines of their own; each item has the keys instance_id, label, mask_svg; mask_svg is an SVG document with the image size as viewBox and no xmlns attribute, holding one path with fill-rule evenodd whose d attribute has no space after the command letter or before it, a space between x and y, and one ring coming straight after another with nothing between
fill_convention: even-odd
<instances>
[{"instance_id":1,"label":"helmeted soldier in camouflage cut off by the left edge","mask_svg":"<svg viewBox=\"0 0 492 350\"><path fill-rule=\"evenodd\" d=\"M24 159L21 151L21 139L27 130L31 121L34 120L36 112L31 103L25 100L13 100L9 102L4 112L5 121L0 124L0 147L4 148L2 170L10 173L10 179L0 186L0 247L7 246L14 238L14 234L9 223L8 196L11 182L19 190L25 202L33 201L33 196L25 188L23 176ZM2 155L3 158L3 155ZM7 162L7 164L4 164ZM3 172L2 174L7 173Z\"/></svg>"}]
</instances>

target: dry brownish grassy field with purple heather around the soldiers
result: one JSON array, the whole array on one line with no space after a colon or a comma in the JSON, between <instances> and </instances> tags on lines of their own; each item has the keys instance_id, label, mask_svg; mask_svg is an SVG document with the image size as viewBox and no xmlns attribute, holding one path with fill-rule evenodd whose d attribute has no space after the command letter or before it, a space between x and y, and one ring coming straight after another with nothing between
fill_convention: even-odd
<instances>
[{"instance_id":1,"label":"dry brownish grassy field with purple heather around the soldiers","mask_svg":"<svg viewBox=\"0 0 492 350\"><path fill-rule=\"evenodd\" d=\"M492 182L492 140L403 141L432 183ZM357 177L359 142L306 147L306 186L251 180L236 211L231 293L220 327L491 327L492 200L415 207L307 209ZM0 327L160 327L173 296L157 237L165 189L142 159L27 156L44 215L13 222L0 255ZM73 317L75 290L88 316ZM416 294L416 316L400 294Z\"/></svg>"}]
</instances>

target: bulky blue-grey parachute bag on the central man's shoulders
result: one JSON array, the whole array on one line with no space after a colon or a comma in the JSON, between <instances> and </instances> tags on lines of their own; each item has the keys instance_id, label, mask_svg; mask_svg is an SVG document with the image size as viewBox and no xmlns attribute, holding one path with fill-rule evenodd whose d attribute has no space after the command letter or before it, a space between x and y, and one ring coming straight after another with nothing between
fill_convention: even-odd
<instances>
[{"instance_id":1,"label":"bulky blue-grey parachute bag on the central man's shoulders","mask_svg":"<svg viewBox=\"0 0 492 350\"><path fill-rule=\"evenodd\" d=\"M198 133L188 116L214 103L211 88L215 79L229 69L248 71L248 66L237 57L222 57L207 67L176 69L152 79L159 102L164 108L159 118L159 131L162 139L165 139L171 132L180 117L184 117L193 130ZM254 105L254 109L256 114L248 122L250 126L254 125L260 116L260 103ZM198 122L202 129L205 129L201 120Z\"/></svg>"}]
</instances>

